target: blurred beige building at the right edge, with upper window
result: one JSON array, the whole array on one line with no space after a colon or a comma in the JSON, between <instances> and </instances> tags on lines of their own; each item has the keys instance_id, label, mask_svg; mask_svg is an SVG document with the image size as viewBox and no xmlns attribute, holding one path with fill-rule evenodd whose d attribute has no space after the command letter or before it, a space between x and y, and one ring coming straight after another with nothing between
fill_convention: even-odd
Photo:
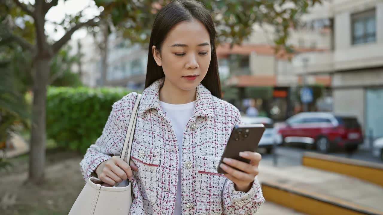
<instances>
[{"instance_id":1,"label":"blurred beige building at the right edge, with upper window","mask_svg":"<svg viewBox=\"0 0 383 215\"><path fill-rule=\"evenodd\" d=\"M301 74L330 74L334 112L358 117L365 135L383 136L383 2L332 0L331 52L309 53Z\"/></svg>"}]
</instances>

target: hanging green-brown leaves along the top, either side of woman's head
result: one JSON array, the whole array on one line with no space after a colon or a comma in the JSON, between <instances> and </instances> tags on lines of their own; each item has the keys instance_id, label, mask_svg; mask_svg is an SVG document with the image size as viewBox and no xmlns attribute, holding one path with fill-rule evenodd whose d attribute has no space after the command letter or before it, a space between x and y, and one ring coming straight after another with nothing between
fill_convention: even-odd
<instances>
[{"instance_id":1,"label":"hanging green-brown leaves along the top, either side of woman's head","mask_svg":"<svg viewBox=\"0 0 383 215\"><path fill-rule=\"evenodd\" d=\"M155 14L169 0L95 0L111 23L133 42L149 42ZM275 27L275 44L285 46L288 29L299 24L307 8L321 0L199 0L216 24L219 42L240 43L252 33L254 23ZM126 10L130 13L126 13Z\"/></svg>"}]
</instances>

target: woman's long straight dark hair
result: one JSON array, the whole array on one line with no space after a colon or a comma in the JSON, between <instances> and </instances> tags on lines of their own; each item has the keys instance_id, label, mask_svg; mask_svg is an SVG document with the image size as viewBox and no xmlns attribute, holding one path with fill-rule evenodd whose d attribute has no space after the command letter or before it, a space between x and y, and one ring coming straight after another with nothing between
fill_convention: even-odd
<instances>
[{"instance_id":1,"label":"woman's long straight dark hair","mask_svg":"<svg viewBox=\"0 0 383 215\"><path fill-rule=\"evenodd\" d=\"M221 98L221 83L219 81L218 60L215 49L216 31L213 19L202 3L190 0L174 0L161 8L155 17L149 42L145 88L155 80L165 77L164 70L154 60L152 46L155 46L160 51L162 43L173 26L179 22L191 20L200 21L210 35L211 60L208 72L201 83L212 95Z\"/></svg>"}]
</instances>

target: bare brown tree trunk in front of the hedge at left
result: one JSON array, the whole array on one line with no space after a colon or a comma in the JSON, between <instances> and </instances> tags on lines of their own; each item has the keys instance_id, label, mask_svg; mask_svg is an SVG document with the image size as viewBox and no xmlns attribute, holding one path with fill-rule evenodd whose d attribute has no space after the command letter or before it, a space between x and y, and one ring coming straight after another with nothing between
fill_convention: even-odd
<instances>
[{"instance_id":1,"label":"bare brown tree trunk in front of the hedge at left","mask_svg":"<svg viewBox=\"0 0 383 215\"><path fill-rule=\"evenodd\" d=\"M33 77L33 112L29 178L34 184L44 182L46 142L46 95L51 57L36 57Z\"/></svg>"}]
</instances>

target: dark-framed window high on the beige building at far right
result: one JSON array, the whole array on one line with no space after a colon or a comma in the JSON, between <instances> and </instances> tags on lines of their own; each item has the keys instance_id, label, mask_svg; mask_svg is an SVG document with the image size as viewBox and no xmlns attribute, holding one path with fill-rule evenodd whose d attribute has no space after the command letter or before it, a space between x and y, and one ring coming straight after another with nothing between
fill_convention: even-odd
<instances>
[{"instance_id":1,"label":"dark-framed window high on the beige building at far right","mask_svg":"<svg viewBox=\"0 0 383 215\"><path fill-rule=\"evenodd\" d=\"M352 44L376 41L375 9L351 15Z\"/></svg>"}]
</instances>

